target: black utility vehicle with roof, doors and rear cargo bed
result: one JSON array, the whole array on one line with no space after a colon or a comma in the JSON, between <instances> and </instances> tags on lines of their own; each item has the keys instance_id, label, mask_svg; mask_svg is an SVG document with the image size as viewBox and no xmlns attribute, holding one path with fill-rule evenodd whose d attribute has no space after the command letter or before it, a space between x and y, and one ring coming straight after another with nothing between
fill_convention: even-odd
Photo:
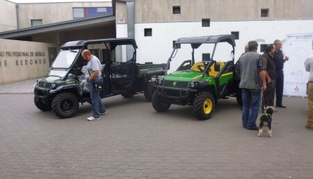
<instances>
[{"instance_id":1,"label":"black utility vehicle with roof, doors and rear cargo bed","mask_svg":"<svg viewBox=\"0 0 313 179\"><path fill-rule=\"evenodd\" d=\"M144 92L147 101L151 101L154 78L164 75L165 64L136 63L134 39L86 40L63 44L49 74L37 80L34 103L39 110L53 110L56 116L68 118L79 110L79 103L91 103L88 90L81 84L84 80L81 69L86 65L81 57L84 49L102 62L101 98L118 94L130 98Z\"/></svg>"}]
</instances>

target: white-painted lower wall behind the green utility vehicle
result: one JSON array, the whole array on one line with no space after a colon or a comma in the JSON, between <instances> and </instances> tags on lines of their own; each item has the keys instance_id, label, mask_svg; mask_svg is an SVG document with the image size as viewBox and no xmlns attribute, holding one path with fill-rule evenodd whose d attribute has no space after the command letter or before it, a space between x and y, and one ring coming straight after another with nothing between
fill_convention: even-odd
<instances>
[{"instance_id":1,"label":"white-painted lower wall behind the green utility vehicle","mask_svg":"<svg viewBox=\"0 0 313 179\"><path fill-rule=\"evenodd\" d=\"M122 25L118 27L121 31L125 29ZM152 28L151 37L144 36L145 28ZM284 40L287 34L312 33L313 20L211 22L211 27L206 28L201 26L201 22L135 24L135 37L138 44L137 59L138 62L166 62L172 52L173 40L180 37L230 34L231 31L239 31L239 40L236 40L235 49L235 60L237 60L248 41L257 40L260 47L260 44L270 44L276 39ZM259 50L258 52L260 53ZM182 59L177 62L173 61L171 70L177 69L177 65L184 60L191 59L190 53L191 50L187 49ZM220 56L216 56L216 60L230 59L230 51L225 51L223 48L216 49L216 55L218 54ZM202 56L195 58L201 60Z\"/></svg>"}]
</instances>

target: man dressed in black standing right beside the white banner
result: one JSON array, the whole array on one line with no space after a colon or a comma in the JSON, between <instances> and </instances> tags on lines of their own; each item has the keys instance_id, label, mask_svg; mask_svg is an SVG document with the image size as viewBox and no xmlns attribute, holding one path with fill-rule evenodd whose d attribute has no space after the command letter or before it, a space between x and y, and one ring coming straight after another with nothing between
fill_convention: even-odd
<instances>
[{"instance_id":1,"label":"man dressed in black standing right beside the white banner","mask_svg":"<svg viewBox=\"0 0 313 179\"><path fill-rule=\"evenodd\" d=\"M274 62L276 67L276 107L277 108L287 108L286 106L282 105L282 93L284 92L284 62L289 60L289 57L284 57L282 51L282 41L275 40L274 41Z\"/></svg>"}]
</instances>

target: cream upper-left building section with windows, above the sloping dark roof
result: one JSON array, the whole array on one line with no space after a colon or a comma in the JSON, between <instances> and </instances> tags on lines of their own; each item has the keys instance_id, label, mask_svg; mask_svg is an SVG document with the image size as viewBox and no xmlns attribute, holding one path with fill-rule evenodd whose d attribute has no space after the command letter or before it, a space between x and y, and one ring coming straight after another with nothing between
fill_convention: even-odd
<instances>
[{"instance_id":1,"label":"cream upper-left building section with windows, above the sloping dark roof","mask_svg":"<svg viewBox=\"0 0 313 179\"><path fill-rule=\"evenodd\" d=\"M0 32L111 14L111 1L13 3L0 0Z\"/></svg>"}]
</instances>

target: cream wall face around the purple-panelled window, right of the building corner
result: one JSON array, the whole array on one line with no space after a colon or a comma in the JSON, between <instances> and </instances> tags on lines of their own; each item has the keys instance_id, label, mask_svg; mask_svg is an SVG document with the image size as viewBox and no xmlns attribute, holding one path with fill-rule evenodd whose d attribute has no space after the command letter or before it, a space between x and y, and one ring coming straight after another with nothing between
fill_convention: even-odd
<instances>
[{"instance_id":1,"label":"cream wall face around the purple-panelled window, right of the building corner","mask_svg":"<svg viewBox=\"0 0 313 179\"><path fill-rule=\"evenodd\" d=\"M82 3L19 3L19 28L31 27L31 19L42 19L42 24L73 19L73 8L112 7L111 2Z\"/></svg>"}]
</instances>

